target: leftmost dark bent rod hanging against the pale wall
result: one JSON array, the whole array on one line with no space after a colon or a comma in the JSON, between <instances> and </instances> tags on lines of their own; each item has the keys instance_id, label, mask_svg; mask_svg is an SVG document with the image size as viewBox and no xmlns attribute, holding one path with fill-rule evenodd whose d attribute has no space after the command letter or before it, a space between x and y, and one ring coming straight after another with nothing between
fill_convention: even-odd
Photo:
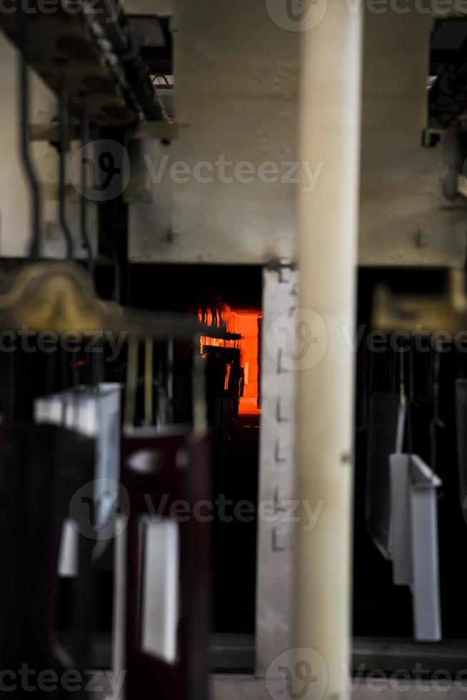
<instances>
[{"instance_id":1,"label":"leftmost dark bent rod hanging against the pale wall","mask_svg":"<svg viewBox=\"0 0 467 700\"><path fill-rule=\"evenodd\" d=\"M23 161L26 179L29 184L32 209L29 255L33 260L37 260L41 252L41 191L29 152L29 73L26 59L22 52L19 54L19 114L21 160Z\"/></svg>"}]
</instances>

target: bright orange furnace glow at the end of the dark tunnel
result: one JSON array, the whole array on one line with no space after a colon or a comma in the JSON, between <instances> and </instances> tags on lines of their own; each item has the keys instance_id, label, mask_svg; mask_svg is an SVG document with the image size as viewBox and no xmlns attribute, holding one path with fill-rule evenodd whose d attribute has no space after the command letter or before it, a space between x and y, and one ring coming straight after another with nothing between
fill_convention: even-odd
<instances>
[{"instance_id":1,"label":"bright orange furnace glow at the end of the dark tunnel","mask_svg":"<svg viewBox=\"0 0 467 700\"><path fill-rule=\"evenodd\" d=\"M229 333L239 334L238 340L219 338L201 338L201 352L204 346L214 345L221 348L236 348L240 350L240 366L244 373L243 398L240 399L239 412L243 415L257 414L258 409L258 311L231 309L227 304L221 304L220 311L216 309L204 314L199 311L199 320L209 326L217 326Z\"/></svg>"}]
</instances>

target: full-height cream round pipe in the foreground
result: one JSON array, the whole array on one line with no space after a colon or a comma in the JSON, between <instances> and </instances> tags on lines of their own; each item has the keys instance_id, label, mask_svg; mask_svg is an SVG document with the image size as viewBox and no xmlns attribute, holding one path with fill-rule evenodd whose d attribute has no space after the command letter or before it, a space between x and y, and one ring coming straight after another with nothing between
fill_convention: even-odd
<instances>
[{"instance_id":1,"label":"full-height cream round pipe in the foreground","mask_svg":"<svg viewBox=\"0 0 467 700\"><path fill-rule=\"evenodd\" d=\"M301 188L299 194L299 315L302 329L311 324L312 341L309 361L302 359L297 368L296 488L315 512L320 501L322 507L311 531L298 526L293 646L312 650L311 661L321 655L325 664L326 679L313 678L318 685L311 683L304 696L314 700L350 693L355 356L348 338L356 310L358 7L338 0L328 0L326 7L326 0L317 0L310 11L323 19L301 37L300 159L322 166L315 189Z\"/></svg>"}]
</instances>

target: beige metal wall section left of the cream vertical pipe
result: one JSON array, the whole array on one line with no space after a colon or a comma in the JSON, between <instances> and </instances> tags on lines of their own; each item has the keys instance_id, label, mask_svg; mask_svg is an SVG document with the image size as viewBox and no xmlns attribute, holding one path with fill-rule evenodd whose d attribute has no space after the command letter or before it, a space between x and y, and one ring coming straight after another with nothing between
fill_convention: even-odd
<instances>
[{"instance_id":1,"label":"beige metal wall section left of the cream vertical pipe","mask_svg":"<svg viewBox=\"0 0 467 700\"><path fill-rule=\"evenodd\" d=\"M174 3L175 119L170 164L220 157L281 168L296 160L298 37L272 21L262 2ZM159 154L148 147L146 155ZM141 155L141 154L140 154ZM144 154L143 154L144 155ZM286 170L286 166L281 171ZM206 173L203 172L203 175ZM169 191L169 221L160 192ZM296 185L155 183L152 203L131 206L130 255L137 261L262 263L295 256ZM164 199L168 197L164 194Z\"/></svg>"}]
</instances>

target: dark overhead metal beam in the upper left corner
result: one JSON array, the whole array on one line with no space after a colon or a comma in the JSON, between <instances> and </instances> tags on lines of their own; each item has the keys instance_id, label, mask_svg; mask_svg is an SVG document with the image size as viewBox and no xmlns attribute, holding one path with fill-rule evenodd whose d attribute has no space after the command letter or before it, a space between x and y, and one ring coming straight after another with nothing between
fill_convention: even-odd
<instances>
[{"instance_id":1,"label":"dark overhead metal beam in the upper left corner","mask_svg":"<svg viewBox=\"0 0 467 700\"><path fill-rule=\"evenodd\" d=\"M161 119L161 109L126 14L114 0L70 9L40 4L0 13L0 29L49 88L62 84L71 114L104 125Z\"/></svg>"}]
</instances>

